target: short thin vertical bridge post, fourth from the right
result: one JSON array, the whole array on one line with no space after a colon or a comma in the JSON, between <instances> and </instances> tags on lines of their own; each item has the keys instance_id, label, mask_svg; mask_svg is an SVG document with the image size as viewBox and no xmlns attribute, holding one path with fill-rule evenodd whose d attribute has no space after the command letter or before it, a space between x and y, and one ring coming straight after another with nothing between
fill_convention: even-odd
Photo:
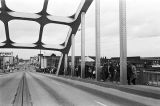
<instances>
[{"instance_id":1,"label":"short thin vertical bridge post, fourth from the right","mask_svg":"<svg viewBox=\"0 0 160 106\"><path fill-rule=\"evenodd\" d=\"M71 38L72 42L72 64L71 64L71 76L74 76L74 70L75 70L75 36L72 34Z\"/></svg>"}]
</instances>

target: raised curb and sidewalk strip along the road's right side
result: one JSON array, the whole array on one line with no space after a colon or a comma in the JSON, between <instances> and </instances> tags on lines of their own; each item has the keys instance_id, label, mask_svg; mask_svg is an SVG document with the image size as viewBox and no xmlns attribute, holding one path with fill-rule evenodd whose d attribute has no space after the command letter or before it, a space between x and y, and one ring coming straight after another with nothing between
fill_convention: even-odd
<instances>
[{"instance_id":1,"label":"raised curb and sidewalk strip along the road's right side","mask_svg":"<svg viewBox=\"0 0 160 106\"><path fill-rule=\"evenodd\" d=\"M60 77L91 83L103 87L118 89L123 92L132 93L144 97L160 99L160 87L153 87L147 85L120 85L118 83L101 82L101 81L95 81L93 79L81 79L77 77L68 77L68 76L60 76Z\"/></svg>"}]
</instances>

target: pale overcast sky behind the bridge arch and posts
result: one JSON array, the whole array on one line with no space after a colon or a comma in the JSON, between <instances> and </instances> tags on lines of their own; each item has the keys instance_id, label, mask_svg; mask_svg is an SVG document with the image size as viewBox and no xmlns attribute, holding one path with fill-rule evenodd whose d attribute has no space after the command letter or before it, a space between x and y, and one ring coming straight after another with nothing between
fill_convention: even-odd
<instances>
[{"instance_id":1,"label":"pale overcast sky behind the bridge arch and posts","mask_svg":"<svg viewBox=\"0 0 160 106\"><path fill-rule=\"evenodd\" d=\"M56 16L70 16L75 13L81 0L49 0L47 12ZM119 50L119 0L101 2L101 56L117 57ZM36 13L42 9L43 0L6 0L7 6L17 12ZM160 57L160 0L126 0L127 55ZM95 3L93 2L85 18L85 54L95 56ZM31 21L13 20L9 22L10 36L17 43L34 43L38 39L39 24ZM47 44L60 44L66 39L68 26L47 24L42 41ZM54 36L53 36L54 35ZM76 55L81 55L81 32L76 40ZM5 40L4 25L0 21L0 42ZM20 58L37 55L39 50L0 49L13 51ZM55 53L55 51L42 51Z\"/></svg>"}]
</instances>

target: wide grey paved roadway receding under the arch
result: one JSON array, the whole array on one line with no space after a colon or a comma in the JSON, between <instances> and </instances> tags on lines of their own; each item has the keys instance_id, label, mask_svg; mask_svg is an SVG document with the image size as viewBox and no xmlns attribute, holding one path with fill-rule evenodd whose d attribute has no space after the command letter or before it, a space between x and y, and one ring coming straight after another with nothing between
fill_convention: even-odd
<instances>
[{"instance_id":1,"label":"wide grey paved roadway receding under the arch","mask_svg":"<svg viewBox=\"0 0 160 106\"><path fill-rule=\"evenodd\" d=\"M0 106L159 106L129 94L29 70L0 75Z\"/></svg>"}]
</instances>

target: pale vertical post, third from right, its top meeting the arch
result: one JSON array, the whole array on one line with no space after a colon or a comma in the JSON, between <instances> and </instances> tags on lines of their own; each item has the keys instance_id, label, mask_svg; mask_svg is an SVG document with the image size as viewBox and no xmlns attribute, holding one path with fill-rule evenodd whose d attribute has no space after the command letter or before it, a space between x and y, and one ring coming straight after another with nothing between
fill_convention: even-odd
<instances>
[{"instance_id":1,"label":"pale vertical post, third from right, its top meeting the arch","mask_svg":"<svg viewBox=\"0 0 160 106\"><path fill-rule=\"evenodd\" d=\"M85 12L81 14L81 78L85 78Z\"/></svg>"}]
</instances>

